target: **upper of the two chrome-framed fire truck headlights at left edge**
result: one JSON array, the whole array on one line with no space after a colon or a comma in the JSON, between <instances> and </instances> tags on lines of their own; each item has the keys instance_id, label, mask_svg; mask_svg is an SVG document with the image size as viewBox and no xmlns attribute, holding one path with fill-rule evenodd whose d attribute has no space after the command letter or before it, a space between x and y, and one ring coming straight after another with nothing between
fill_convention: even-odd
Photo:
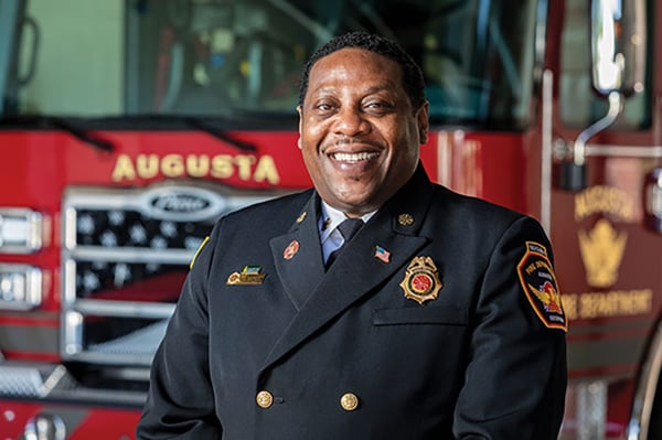
<instances>
[{"instance_id":1,"label":"upper of the two chrome-framed fire truck headlights at left edge","mask_svg":"<svg viewBox=\"0 0 662 440\"><path fill-rule=\"evenodd\" d=\"M40 213L4 207L0 208L0 253L30 254L41 249L43 217Z\"/></svg>"}]
</instances>

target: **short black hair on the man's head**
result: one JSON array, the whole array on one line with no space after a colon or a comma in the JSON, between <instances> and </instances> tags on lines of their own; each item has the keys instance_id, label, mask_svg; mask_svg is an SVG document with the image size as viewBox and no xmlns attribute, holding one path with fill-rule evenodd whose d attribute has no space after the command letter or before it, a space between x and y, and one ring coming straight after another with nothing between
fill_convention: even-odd
<instances>
[{"instance_id":1,"label":"short black hair on the man's head","mask_svg":"<svg viewBox=\"0 0 662 440\"><path fill-rule=\"evenodd\" d=\"M310 69L314 63L333 52L348 47L363 49L396 62L403 71L403 87L412 101L412 107L417 110L425 103L423 72L414 58L398 43L367 32L349 32L329 40L310 56L306 66L303 66L299 82L299 105L303 105Z\"/></svg>"}]
</instances>

